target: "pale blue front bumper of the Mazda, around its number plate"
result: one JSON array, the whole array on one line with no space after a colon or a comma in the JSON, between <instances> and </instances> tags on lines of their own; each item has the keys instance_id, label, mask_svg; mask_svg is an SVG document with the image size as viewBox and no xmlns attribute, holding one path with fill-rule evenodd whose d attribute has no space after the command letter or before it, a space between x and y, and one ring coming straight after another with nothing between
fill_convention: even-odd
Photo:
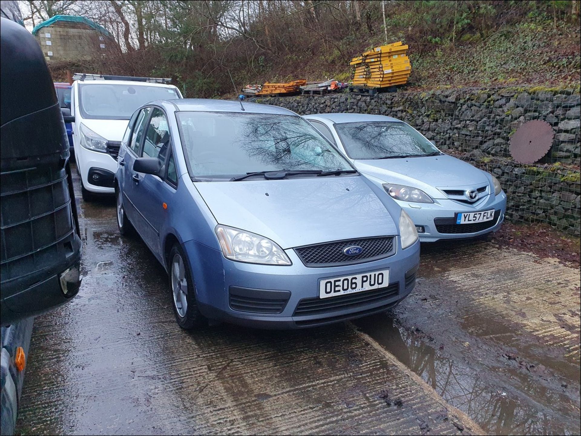
<instances>
[{"instance_id":1,"label":"pale blue front bumper of the Mazda, around its number plate","mask_svg":"<svg viewBox=\"0 0 581 436\"><path fill-rule=\"evenodd\" d=\"M436 242L440 239L465 239L496 232L504 221L507 208L507 197L504 191L498 195L488 195L475 204L464 204L450 199L435 199L434 203L409 203L399 201L397 203L406 210L416 226L423 226L424 233L419 233L421 242ZM498 218L486 229L472 233L440 233L434 220L436 218L454 218L456 212L479 212L494 209L500 211Z\"/></svg>"}]
</instances>

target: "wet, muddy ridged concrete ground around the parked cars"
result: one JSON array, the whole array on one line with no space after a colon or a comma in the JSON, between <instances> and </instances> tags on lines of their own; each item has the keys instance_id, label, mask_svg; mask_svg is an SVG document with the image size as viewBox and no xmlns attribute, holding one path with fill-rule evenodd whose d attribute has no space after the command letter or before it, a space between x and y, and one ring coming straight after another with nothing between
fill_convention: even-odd
<instances>
[{"instance_id":1,"label":"wet, muddy ridged concrete ground around the parked cars","mask_svg":"<svg viewBox=\"0 0 581 436\"><path fill-rule=\"evenodd\" d=\"M187 333L114 201L77 201L83 286L35 322L17 434L580 432L576 266L433 244L390 314Z\"/></svg>"}]
</instances>

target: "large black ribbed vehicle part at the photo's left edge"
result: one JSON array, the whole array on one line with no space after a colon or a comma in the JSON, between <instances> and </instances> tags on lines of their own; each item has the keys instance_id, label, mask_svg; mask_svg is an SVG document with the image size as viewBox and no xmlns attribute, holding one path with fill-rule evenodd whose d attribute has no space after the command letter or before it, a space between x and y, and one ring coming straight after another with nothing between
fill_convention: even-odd
<instances>
[{"instance_id":1,"label":"large black ribbed vehicle part at the photo's left edge","mask_svg":"<svg viewBox=\"0 0 581 436\"><path fill-rule=\"evenodd\" d=\"M82 244L69 142L38 42L0 18L1 324L69 301Z\"/></svg>"}]
</instances>

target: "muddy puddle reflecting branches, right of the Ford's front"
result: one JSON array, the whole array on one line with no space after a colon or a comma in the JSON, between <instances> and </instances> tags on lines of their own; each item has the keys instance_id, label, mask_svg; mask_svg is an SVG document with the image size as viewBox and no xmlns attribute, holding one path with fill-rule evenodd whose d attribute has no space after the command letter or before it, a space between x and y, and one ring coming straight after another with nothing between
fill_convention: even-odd
<instances>
[{"instance_id":1,"label":"muddy puddle reflecting branches, right of the Ford's front","mask_svg":"<svg viewBox=\"0 0 581 436\"><path fill-rule=\"evenodd\" d=\"M560 413L571 401L559 392L523 378L510 367L489 369L478 362L471 365L465 359L449 358L437 348L439 343L418 338L385 315L359 319L354 324L487 433L579 434L579 421ZM508 332L498 327L497 333ZM523 383L524 392L495 383L500 382L495 371ZM557 410L551 409L551 405L557 405Z\"/></svg>"}]
</instances>

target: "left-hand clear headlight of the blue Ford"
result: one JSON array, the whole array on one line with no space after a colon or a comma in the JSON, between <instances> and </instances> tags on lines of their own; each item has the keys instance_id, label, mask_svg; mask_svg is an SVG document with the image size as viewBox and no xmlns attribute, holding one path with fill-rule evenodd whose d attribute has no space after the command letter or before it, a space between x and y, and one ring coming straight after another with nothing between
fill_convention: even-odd
<instances>
[{"instance_id":1,"label":"left-hand clear headlight of the blue Ford","mask_svg":"<svg viewBox=\"0 0 581 436\"><path fill-rule=\"evenodd\" d=\"M250 264L292 265L284 250L266 237L223 225L217 225L215 231L227 259Z\"/></svg>"}]
</instances>

